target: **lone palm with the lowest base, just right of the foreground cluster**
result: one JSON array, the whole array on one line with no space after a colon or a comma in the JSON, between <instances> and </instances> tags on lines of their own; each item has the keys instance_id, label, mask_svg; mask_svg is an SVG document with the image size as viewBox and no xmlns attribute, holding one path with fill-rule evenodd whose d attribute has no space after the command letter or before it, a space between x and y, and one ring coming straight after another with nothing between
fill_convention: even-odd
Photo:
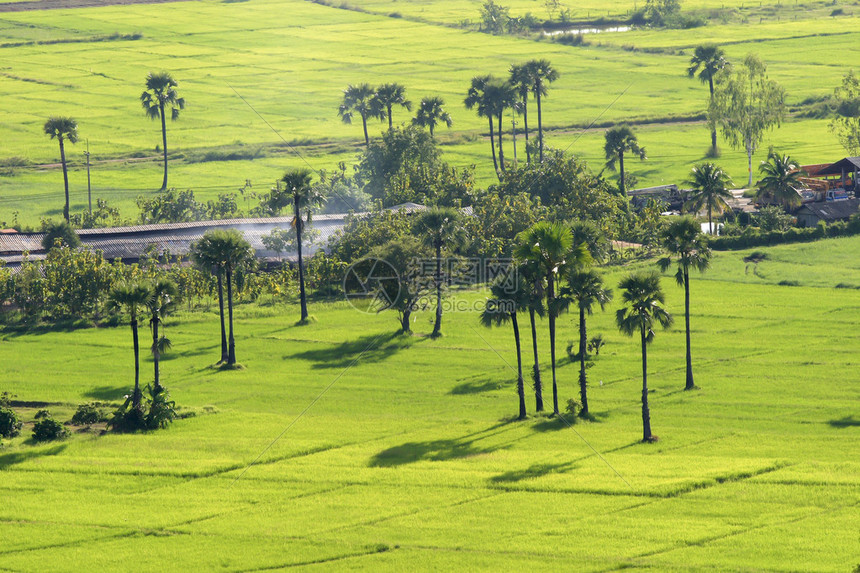
<instances>
[{"instance_id":1,"label":"lone palm with the lowest base, just right of the foreground cluster","mask_svg":"<svg viewBox=\"0 0 860 573\"><path fill-rule=\"evenodd\" d=\"M672 324L672 315L663 308L665 297L656 272L629 275L618 288L624 291L621 296L624 308L616 312L615 322L621 332L628 336L638 332L642 340L642 441L653 442L657 437L651 433L651 411L648 408L647 344L654 340L656 325L668 328Z\"/></svg>"}]
</instances>

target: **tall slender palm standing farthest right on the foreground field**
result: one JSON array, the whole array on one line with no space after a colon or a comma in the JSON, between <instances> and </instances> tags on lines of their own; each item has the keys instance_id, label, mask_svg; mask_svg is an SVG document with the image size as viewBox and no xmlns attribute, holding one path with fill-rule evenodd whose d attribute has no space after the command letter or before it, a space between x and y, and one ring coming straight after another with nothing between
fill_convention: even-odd
<instances>
[{"instance_id":1,"label":"tall slender palm standing farthest right on the foreground field","mask_svg":"<svg viewBox=\"0 0 860 573\"><path fill-rule=\"evenodd\" d=\"M672 265L674 255L678 264L675 280L684 287L684 324L687 332L687 382L684 390L692 390L696 386L693 383L693 359L690 353L690 268L705 272L711 264L711 249L692 217L680 217L672 221L663 231L663 247L670 256L658 261L660 269L665 272Z\"/></svg>"}]
</instances>

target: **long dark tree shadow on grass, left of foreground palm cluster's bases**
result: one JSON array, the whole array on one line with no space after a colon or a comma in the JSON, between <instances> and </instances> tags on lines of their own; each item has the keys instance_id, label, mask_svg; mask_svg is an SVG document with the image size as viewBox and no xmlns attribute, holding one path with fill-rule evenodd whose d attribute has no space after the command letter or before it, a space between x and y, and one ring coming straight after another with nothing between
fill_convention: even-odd
<instances>
[{"instance_id":1,"label":"long dark tree shadow on grass, left of foreground palm cluster's bases","mask_svg":"<svg viewBox=\"0 0 860 573\"><path fill-rule=\"evenodd\" d=\"M502 422L459 438L429 440L426 442L406 442L382 450L370 459L370 467L394 467L414 462L442 462L489 454L512 445L516 440L504 443L480 444L482 440L497 437L516 426ZM522 439L522 438L519 438Z\"/></svg>"}]
</instances>

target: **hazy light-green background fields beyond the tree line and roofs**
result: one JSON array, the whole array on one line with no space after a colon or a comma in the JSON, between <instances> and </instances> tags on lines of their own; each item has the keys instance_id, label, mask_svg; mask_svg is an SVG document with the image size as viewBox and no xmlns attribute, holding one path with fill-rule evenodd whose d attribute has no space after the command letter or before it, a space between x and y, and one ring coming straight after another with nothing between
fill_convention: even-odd
<instances>
[{"instance_id":1,"label":"hazy light-green background fields beyond the tree line and roofs","mask_svg":"<svg viewBox=\"0 0 860 573\"><path fill-rule=\"evenodd\" d=\"M74 209L82 209L86 199L86 139L95 163L94 197L110 200L126 217L136 215L134 198L153 193L161 183L155 150L159 125L145 118L137 100L151 69L171 71L188 102L168 127L175 154L170 183L194 189L203 199L238 189L245 180L267 189L287 167L305 159L314 168L352 162L361 128L343 125L336 110L341 90L363 81L402 82L413 101L441 95L455 121L453 130L439 134L446 159L458 166L476 164L478 181L486 185L494 177L486 123L462 107L465 88L476 74L504 75L509 64L538 57L550 59L561 72L545 101L548 144L569 147L599 170L603 129L582 131L594 122L641 124L637 130L652 159L633 162L631 169L649 186L682 180L691 164L704 158L709 139L701 122L667 123L696 117L705 107L706 88L684 73L694 45L724 44L732 60L759 53L793 106L832 93L848 70L838 62L850 61L860 45L854 31L858 17L820 18L820 3L783 7L780 13L798 16L796 22L765 19L692 31L603 34L581 47L448 25L463 17L449 14L477 12L477 2L469 7L450 0L354 4L369 12L301 0L209 0L0 14L0 50L8 62L0 70L0 221L11 222L15 211L26 225L60 214L62 176L56 167L45 167L58 161L57 145L41 129L52 114L72 115L80 125L82 141L68 150ZM517 12L533 4L511 6ZM762 9L768 6L775 5ZM421 21L388 16L421 10L434 15L423 14ZM395 121L407 116L398 111ZM768 134L759 155L774 145L809 163L841 157L845 153L826 124L796 118ZM378 133L381 125L371 128ZM305 159L281 138L293 142ZM510 138L507 145L510 158ZM743 153L723 147L720 163L743 182Z\"/></svg>"}]
</instances>

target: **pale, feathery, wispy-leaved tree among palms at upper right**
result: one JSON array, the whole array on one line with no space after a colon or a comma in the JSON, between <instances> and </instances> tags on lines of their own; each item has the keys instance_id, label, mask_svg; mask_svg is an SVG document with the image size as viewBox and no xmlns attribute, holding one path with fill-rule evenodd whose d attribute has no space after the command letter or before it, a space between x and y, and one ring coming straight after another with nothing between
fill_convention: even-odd
<instances>
[{"instance_id":1,"label":"pale, feathery, wispy-leaved tree among palms at upper right","mask_svg":"<svg viewBox=\"0 0 860 573\"><path fill-rule=\"evenodd\" d=\"M732 147L746 151L750 187L752 156L765 132L780 125L785 109L785 90L768 79L767 66L758 56L749 54L741 66L719 73L709 117Z\"/></svg>"}]
</instances>

